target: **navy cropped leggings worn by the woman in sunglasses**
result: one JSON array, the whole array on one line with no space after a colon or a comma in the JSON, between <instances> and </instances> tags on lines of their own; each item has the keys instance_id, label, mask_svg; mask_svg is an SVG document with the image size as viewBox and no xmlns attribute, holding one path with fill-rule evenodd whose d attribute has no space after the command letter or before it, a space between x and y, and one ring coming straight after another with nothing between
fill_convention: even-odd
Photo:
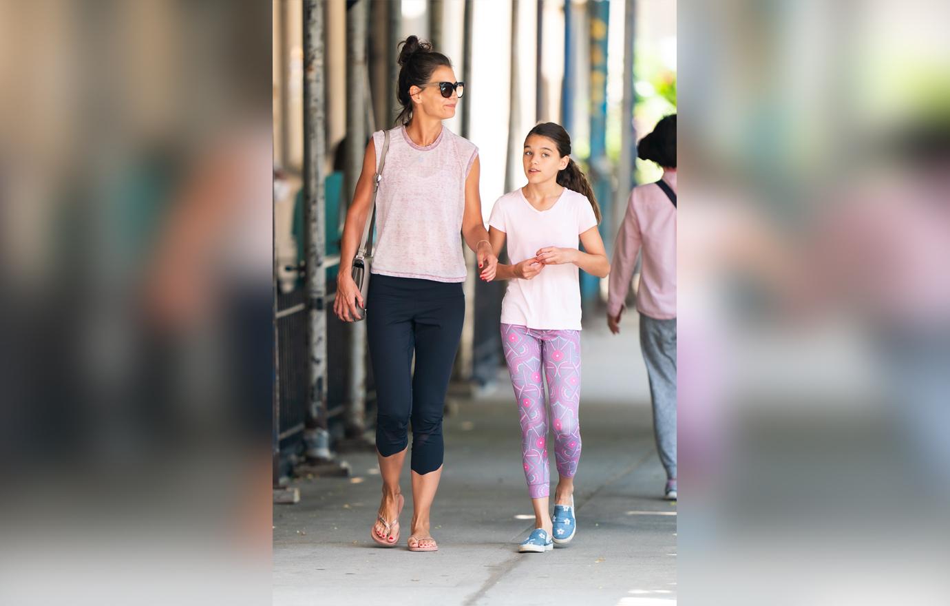
<instances>
[{"instance_id":1,"label":"navy cropped leggings worn by the woman in sunglasses","mask_svg":"<svg viewBox=\"0 0 950 606\"><path fill-rule=\"evenodd\" d=\"M376 449L384 457L402 452L411 421L410 466L418 474L442 466L442 417L465 314L461 283L371 277L366 321L378 403Z\"/></svg>"}]
</instances>

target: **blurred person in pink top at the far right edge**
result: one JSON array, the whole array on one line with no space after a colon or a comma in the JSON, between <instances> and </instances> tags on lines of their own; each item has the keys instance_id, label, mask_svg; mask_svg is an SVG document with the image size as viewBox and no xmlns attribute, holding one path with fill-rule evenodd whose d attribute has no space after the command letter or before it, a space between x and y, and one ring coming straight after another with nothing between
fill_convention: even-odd
<instances>
[{"instance_id":1,"label":"blurred person in pink top at the far right edge","mask_svg":"<svg viewBox=\"0 0 950 606\"><path fill-rule=\"evenodd\" d=\"M868 329L914 490L950 498L950 120L916 116L834 191L807 247L813 304ZM890 162L882 170L881 161Z\"/></svg>"}]
</instances>

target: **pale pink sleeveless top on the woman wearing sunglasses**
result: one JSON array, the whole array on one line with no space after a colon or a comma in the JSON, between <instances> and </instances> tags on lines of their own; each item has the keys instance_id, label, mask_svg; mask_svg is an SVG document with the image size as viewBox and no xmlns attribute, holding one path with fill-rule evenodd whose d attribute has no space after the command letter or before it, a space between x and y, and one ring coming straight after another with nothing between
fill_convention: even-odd
<instances>
[{"instance_id":1,"label":"pale pink sleeveless top on the woman wearing sunglasses","mask_svg":"<svg viewBox=\"0 0 950 606\"><path fill-rule=\"evenodd\" d=\"M372 134L376 165L384 133ZM462 217L466 178L478 148L445 126L425 147L409 139L404 126L390 130L383 179L376 194L373 274L464 282Z\"/></svg>"}]
</instances>

